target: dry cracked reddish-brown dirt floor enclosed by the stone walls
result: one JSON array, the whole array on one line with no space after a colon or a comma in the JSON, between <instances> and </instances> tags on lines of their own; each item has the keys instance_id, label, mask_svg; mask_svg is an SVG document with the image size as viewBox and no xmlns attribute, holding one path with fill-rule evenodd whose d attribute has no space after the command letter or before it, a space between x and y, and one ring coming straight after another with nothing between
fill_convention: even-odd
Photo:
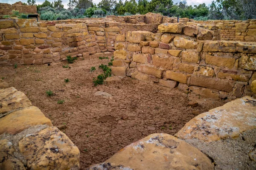
<instances>
[{"instance_id":1,"label":"dry cracked reddish-brown dirt floor enclosed by the stone walls","mask_svg":"<svg viewBox=\"0 0 256 170\"><path fill-rule=\"evenodd\" d=\"M87 57L69 64L70 68L62 67L67 61L0 67L0 77L25 93L53 125L67 125L62 131L79 147L81 170L151 133L174 135L194 117L193 111L203 113L225 103L196 96L199 106L191 108L187 105L191 94L130 77L94 87L93 78L102 73L98 66L108 62ZM91 73L92 66L96 71ZM64 82L67 78L70 82ZM47 90L54 95L47 96ZM95 96L96 91L113 98Z\"/></svg>"}]
</instances>

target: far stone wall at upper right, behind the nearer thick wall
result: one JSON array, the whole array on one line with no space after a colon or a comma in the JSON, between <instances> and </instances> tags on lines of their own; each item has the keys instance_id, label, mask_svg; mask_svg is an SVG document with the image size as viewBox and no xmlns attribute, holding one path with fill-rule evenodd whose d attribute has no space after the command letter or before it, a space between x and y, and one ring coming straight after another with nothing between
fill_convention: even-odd
<instances>
[{"instance_id":1,"label":"far stone wall at upper right, behind the nearer thick wall","mask_svg":"<svg viewBox=\"0 0 256 170\"><path fill-rule=\"evenodd\" d=\"M189 24L212 25L221 28L221 40L256 42L256 20L190 20Z\"/></svg>"}]
</instances>

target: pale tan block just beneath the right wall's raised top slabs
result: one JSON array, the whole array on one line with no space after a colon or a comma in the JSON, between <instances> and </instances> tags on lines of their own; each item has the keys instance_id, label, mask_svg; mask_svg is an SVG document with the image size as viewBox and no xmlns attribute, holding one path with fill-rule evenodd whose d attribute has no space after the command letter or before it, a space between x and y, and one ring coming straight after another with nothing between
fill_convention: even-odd
<instances>
[{"instance_id":1,"label":"pale tan block just beneath the right wall's raised top slabs","mask_svg":"<svg viewBox=\"0 0 256 170\"><path fill-rule=\"evenodd\" d=\"M189 40L183 37L175 37L173 41L174 41L174 45L177 48L194 49L194 48L197 48L197 45L198 45L198 42L194 40Z\"/></svg>"}]
</instances>

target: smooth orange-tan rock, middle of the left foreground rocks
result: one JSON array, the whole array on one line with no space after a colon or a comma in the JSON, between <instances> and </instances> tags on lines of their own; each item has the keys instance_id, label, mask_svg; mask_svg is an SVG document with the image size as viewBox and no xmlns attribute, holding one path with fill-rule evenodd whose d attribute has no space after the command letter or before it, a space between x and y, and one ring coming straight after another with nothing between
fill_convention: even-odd
<instances>
[{"instance_id":1,"label":"smooth orange-tan rock, middle of the left foreground rocks","mask_svg":"<svg viewBox=\"0 0 256 170\"><path fill-rule=\"evenodd\" d=\"M12 112L0 119L0 134L17 134L22 130L35 125L52 126L50 119L37 107L28 107L19 111Z\"/></svg>"}]
</instances>

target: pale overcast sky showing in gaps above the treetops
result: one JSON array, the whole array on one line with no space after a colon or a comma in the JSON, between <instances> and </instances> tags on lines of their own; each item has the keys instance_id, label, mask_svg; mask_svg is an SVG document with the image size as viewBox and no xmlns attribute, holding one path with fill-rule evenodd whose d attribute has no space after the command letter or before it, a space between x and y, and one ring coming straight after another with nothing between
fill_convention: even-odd
<instances>
[{"instance_id":1,"label":"pale overcast sky showing in gaps above the treetops","mask_svg":"<svg viewBox=\"0 0 256 170\"><path fill-rule=\"evenodd\" d=\"M0 3L10 3L13 4L15 2L17 2L19 0L0 0ZM21 0L22 2L26 3L27 0ZM50 2L54 1L54 0L48 0ZM101 0L93 0L93 3L98 4ZM118 1L118 0L116 0ZM125 1L125 0L123 0ZM137 0L136 0L137 1ZM41 4L44 2L44 0L35 0L36 4ZM68 8L67 3L69 2L69 0L62 0L62 3L64 4L64 8ZM180 2L180 0L173 0L174 3L176 2ZM212 0L187 0L187 4L188 5L198 5L200 3L205 3L207 6L212 2Z\"/></svg>"}]
</instances>

